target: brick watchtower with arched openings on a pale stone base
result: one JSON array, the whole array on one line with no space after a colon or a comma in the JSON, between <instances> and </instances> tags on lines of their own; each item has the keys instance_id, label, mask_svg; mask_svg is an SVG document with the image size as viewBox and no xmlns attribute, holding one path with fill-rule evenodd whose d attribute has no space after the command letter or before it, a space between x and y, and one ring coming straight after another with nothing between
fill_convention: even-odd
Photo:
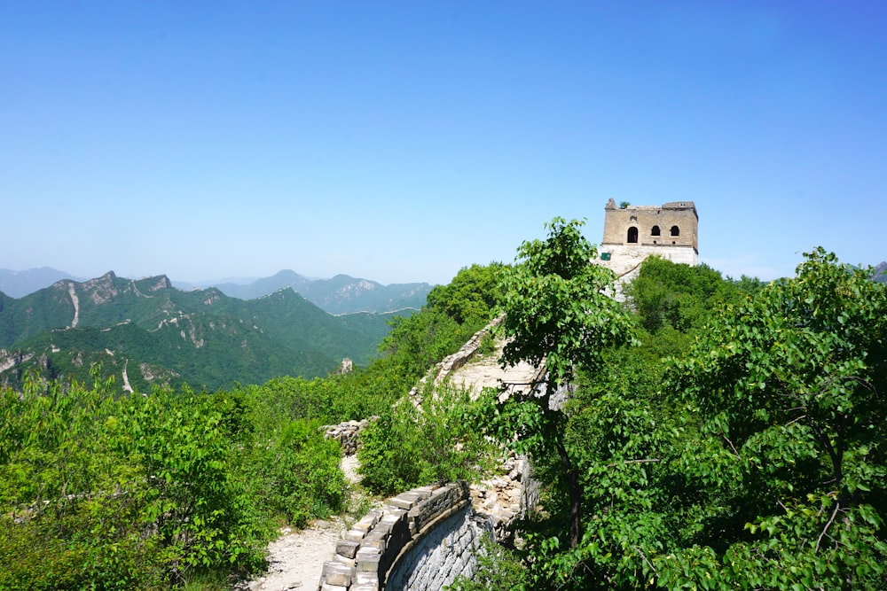
<instances>
[{"instance_id":1,"label":"brick watchtower with arched openings on a pale stone base","mask_svg":"<svg viewBox=\"0 0 887 591\"><path fill-rule=\"evenodd\" d=\"M620 280L632 279L651 254L687 265L699 261L699 215L693 201L619 207L610 199L604 211L597 262L613 269Z\"/></svg>"}]
</instances>

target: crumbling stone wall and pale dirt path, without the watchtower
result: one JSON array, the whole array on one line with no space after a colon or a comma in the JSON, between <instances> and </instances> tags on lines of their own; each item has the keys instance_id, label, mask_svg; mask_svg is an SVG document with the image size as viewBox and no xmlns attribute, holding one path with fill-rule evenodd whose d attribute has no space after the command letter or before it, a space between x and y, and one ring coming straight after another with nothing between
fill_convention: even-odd
<instances>
[{"instance_id":1,"label":"crumbling stone wall and pale dirt path, without the watchtower","mask_svg":"<svg viewBox=\"0 0 887 591\"><path fill-rule=\"evenodd\" d=\"M420 404L423 383L451 385L479 394L497 388L503 395L526 391L539 381L538 368L526 363L503 369L498 353L477 356L490 323L428 372L406 396ZM501 346L501 345L500 345ZM326 436L342 447L346 476L356 481L359 433L369 421L326 427ZM475 553L483 536L507 541L515 519L538 504L538 485L530 463L506 456L498 470L478 483L464 481L421 486L371 509L350 527L334 519L302 532L284 530L270 546L271 569L239 587L249 591L438 591L456 577L475 571Z\"/></svg>"}]
</instances>

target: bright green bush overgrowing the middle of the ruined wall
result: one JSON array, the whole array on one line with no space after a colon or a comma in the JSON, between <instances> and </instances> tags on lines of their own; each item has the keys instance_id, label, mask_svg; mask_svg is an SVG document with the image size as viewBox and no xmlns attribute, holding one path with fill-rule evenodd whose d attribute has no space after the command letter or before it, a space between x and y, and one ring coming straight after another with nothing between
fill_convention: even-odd
<instances>
[{"instance_id":1,"label":"bright green bush overgrowing the middle of the ruined wall","mask_svg":"<svg viewBox=\"0 0 887 591\"><path fill-rule=\"evenodd\" d=\"M449 385L428 389L421 407L402 400L361 435L363 485L396 494L415 486L478 477L493 448L475 428L477 402Z\"/></svg>"}]
</instances>

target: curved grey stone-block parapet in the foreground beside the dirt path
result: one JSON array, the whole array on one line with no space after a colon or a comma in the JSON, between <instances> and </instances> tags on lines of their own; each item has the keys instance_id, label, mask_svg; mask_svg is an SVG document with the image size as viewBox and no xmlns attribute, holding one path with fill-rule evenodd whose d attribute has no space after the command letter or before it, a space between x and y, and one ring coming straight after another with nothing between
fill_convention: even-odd
<instances>
[{"instance_id":1,"label":"curved grey stone-block parapet in the foreground beside the dirt path","mask_svg":"<svg viewBox=\"0 0 887 591\"><path fill-rule=\"evenodd\" d=\"M320 591L438 591L475 570L491 527L475 517L464 481L389 499L351 527L324 564Z\"/></svg>"}]
</instances>

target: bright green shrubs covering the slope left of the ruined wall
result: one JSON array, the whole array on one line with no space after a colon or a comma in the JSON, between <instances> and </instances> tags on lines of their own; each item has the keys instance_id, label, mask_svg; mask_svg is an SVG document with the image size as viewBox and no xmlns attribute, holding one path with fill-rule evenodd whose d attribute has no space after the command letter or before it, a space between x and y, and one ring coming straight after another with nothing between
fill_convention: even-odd
<instances>
[{"instance_id":1,"label":"bright green shrubs covering the slope left of the ruined wall","mask_svg":"<svg viewBox=\"0 0 887 591\"><path fill-rule=\"evenodd\" d=\"M224 588L260 571L279 525L347 502L340 449L320 426L402 413L392 404L428 364L486 323L489 294L471 285L495 285L499 267L464 269L348 374L120 395L94 366L91 385L29 372L0 388L0 589ZM437 406L451 424L456 397ZM459 455L441 468L449 441L433 425L439 453L396 482L462 475ZM383 482L390 466L368 463L368 480Z\"/></svg>"}]
</instances>

